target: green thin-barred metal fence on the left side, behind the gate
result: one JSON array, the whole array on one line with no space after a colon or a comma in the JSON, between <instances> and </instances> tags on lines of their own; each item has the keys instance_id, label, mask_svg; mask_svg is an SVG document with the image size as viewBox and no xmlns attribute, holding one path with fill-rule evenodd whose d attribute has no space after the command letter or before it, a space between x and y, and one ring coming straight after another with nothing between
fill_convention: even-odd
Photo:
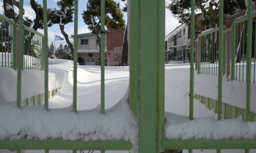
<instances>
[{"instance_id":1,"label":"green thin-barred metal fence on the left side, behind the gate","mask_svg":"<svg viewBox=\"0 0 256 153\"><path fill-rule=\"evenodd\" d=\"M30 27L23 26L24 38L19 39L19 29L16 23L0 15L0 66L16 70L17 51L19 42L24 42L24 55L22 59L23 70L43 70L42 66L42 40L43 34ZM22 28L20 28L22 29Z\"/></svg>"}]
</instances>

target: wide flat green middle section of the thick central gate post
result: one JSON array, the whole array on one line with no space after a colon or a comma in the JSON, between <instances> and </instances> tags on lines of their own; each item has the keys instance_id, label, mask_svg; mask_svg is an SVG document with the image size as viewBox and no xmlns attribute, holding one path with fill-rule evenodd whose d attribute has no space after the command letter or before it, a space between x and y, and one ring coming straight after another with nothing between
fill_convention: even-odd
<instances>
[{"instance_id":1,"label":"wide flat green middle section of the thick central gate post","mask_svg":"<svg viewBox=\"0 0 256 153\"><path fill-rule=\"evenodd\" d=\"M158 0L140 0L139 153L157 153L158 12Z\"/></svg>"}]
</instances>

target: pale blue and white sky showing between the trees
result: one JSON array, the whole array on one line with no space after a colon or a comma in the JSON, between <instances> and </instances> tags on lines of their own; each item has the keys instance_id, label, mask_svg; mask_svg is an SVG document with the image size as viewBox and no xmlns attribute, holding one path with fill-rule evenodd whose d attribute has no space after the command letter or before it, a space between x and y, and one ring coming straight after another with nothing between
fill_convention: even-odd
<instances>
[{"instance_id":1,"label":"pale blue and white sky showing between the trees","mask_svg":"<svg viewBox=\"0 0 256 153\"><path fill-rule=\"evenodd\" d=\"M0 0L0 5L2 6L2 7L0 7L1 14L3 12L3 2L2 1L3 0ZM36 1L40 4L42 4L42 0L36 0ZM121 8L124 7L125 3L122 0L116 0L116 1L120 2ZM47 7L48 8L57 7L56 2L57 2L57 0L47 0ZM79 34L90 32L90 30L87 28L87 26L83 22L82 15L81 15L82 12L86 9L86 3L87 3L87 0L79 0L79 3L78 3L78 33ZM24 0L24 9L25 9L25 16L28 16L30 19L35 18L35 13L31 8L30 0ZM125 20L127 20L126 13L124 13L124 18L125 18ZM74 25L73 23L69 23L69 24L65 25L65 32L69 36L74 33L73 25ZM171 15L170 11L165 8L165 35L170 33L172 30L174 30L179 25L180 24L178 23L178 20L175 19ZM43 29L38 29L37 31L43 33ZM64 36L61 33L59 25L53 25L52 27L48 27L48 40L54 42L54 33L56 35L59 35L64 38ZM56 41L56 42L65 42L65 41Z\"/></svg>"}]
</instances>

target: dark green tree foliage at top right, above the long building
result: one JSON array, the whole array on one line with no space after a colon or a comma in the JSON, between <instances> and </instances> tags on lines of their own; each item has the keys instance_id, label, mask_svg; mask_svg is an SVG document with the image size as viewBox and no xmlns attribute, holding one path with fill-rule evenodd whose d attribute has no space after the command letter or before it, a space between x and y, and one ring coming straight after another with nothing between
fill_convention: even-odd
<instances>
[{"instance_id":1,"label":"dark green tree foliage at top right, above the long building","mask_svg":"<svg viewBox=\"0 0 256 153\"><path fill-rule=\"evenodd\" d=\"M220 0L195 0L195 11L203 13L202 24L215 27L219 19ZM180 23L188 23L190 20L191 0L168 0L168 8ZM224 0L224 14L233 14L239 9L245 9L245 0Z\"/></svg>"}]
</instances>

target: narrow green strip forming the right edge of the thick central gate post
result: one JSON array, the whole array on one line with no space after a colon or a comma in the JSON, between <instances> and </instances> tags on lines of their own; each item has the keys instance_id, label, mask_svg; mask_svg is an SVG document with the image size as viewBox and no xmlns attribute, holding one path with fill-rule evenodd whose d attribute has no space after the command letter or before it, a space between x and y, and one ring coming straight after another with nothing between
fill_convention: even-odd
<instances>
[{"instance_id":1,"label":"narrow green strip forming the right edge of the thick central gate post","mask_svg":"<svg viewBox=\"0 0 256 153\"><path fill-rule=\"evenodd\" d=\"M158 67L157 67L157 153L163 151L162 137L164 126L164 27L165 27L165 2L158 0Z\"/></svg>"}]
</instances>

